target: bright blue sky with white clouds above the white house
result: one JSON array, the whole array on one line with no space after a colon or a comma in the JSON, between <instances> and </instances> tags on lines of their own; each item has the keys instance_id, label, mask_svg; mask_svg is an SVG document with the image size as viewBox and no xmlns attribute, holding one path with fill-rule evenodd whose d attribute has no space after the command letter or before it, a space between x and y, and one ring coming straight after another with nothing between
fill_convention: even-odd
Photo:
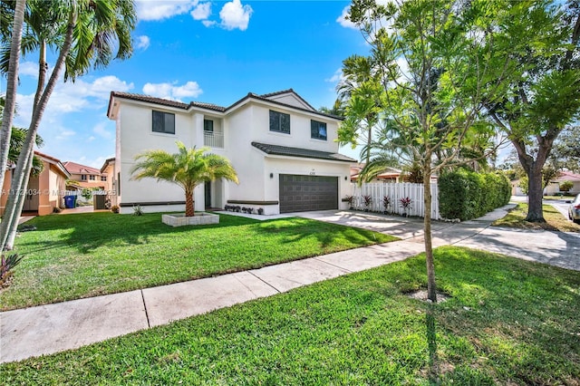
<instances>
[{"instance_id":1,"label":"bright blue sky with white clouds above the white house","mask_svg":"<svg viewBox=\"0 0 580 386\"><path fill-rule=\"evenodd\" d=\"M293 88L315 108L330 107L342 61L369 51L362 34L343 18L349 4L138 1L132 57L74 83L61 77L39 130L40 151L101 168L114 157L115 125L106 117L111 91L228 106L247 92ZM14 126L28 127L36 62L34 54L21 61ZM1 88L4 92L5 80Z\"/></svg>"}]
</instances>

